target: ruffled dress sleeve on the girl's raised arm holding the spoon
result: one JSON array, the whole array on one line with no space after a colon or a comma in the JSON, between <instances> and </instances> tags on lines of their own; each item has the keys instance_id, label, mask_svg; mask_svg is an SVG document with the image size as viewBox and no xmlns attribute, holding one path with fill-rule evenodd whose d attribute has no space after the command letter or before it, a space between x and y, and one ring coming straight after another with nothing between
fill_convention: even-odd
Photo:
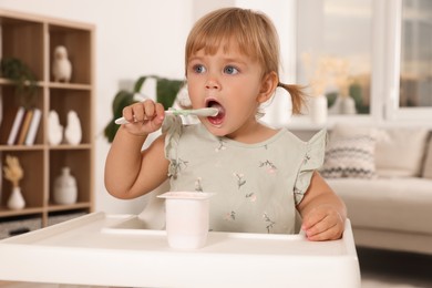
<instances>
[{"instance_id":1,"label":"ruffled dress sleeve on the girl's raised arm holding the spoon","mask_svg":"<svg viewBox=\"0 0 432 288\"><path fill-rule=\"evenodd\" d=\"M177 146L182 135L182 117L166 115L162 125L162 133L165 135L165 158L169 161L168 177L177 177Z\"/></svg>"}]
</instances>

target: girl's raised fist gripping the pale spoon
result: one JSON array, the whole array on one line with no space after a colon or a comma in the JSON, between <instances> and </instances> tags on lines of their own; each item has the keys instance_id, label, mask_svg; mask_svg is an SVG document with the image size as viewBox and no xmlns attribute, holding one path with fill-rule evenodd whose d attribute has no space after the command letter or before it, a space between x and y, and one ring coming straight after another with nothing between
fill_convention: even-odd
<instances>
[{"instance_id":1,"label":"girl's raised fist gripping the pale spoon","mask_svg":"<svg viewBox=\"0 0 432 288\"><path fill-rule=\"evenodd\" d=\"M145 100L124 107L123 117L130 122L124 124L127 132L137 136L145 136L161 128L165 110L161 103Z\"/></svg>"}]
</instances>

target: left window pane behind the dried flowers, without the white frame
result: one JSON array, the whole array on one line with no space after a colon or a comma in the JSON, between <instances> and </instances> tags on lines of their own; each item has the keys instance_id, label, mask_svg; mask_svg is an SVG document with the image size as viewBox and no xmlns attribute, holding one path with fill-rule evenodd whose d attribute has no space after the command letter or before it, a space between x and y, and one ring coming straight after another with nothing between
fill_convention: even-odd
<instances>
[{"instance_id":1,"label":"left window pane behind the dried flowers, without the white frame","mask_svg":"<svg viewBox=\"0 0 432 288\"><path fill-rule=\"evenodd\" d=\"M369 114L372 0L302 0L298 16L298 82L326 94L332 114L347 113L339 97L351 97L356 114Z\"/></svg>"}]
</instances>

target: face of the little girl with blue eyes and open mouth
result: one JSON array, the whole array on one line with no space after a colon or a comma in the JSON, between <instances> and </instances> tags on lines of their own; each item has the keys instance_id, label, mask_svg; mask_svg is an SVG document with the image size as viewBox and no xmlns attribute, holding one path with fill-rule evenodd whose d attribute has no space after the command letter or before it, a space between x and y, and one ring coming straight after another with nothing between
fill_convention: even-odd
<instances>
[{"instance_id":1,"label":"face of the little girl with blue eyes and open mouth","mask_svg":"<svg viewBox=\"0 0 432 288\"><path fill-rule=\"evenodd\" d=\"M256 113L266 101L263 71L257 61L243 54L236 45L215 54L204 49L193 54L187 63L187 86L192 106L217 107L214 117L200 117L207 130L216 136L244 138L257 128ZM265 95L264 95L265 94Z\"/></svg>"}]
</instances>

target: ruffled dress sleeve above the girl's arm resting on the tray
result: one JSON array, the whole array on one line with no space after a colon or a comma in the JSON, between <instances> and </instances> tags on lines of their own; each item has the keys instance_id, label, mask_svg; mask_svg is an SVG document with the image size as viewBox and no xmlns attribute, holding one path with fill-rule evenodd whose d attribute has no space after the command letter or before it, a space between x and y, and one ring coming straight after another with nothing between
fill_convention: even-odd
<instances>
[{"instance_id":1,"label":"ruffled dress sleeve above the girl's arm resting on the tray","mask_svg":"<svg viewBox=\"0 0 432 288\"><path fill-rule=\"evenodd\" d=\"M294 186L296 205L301 202L306 191L310 185L310 179L315 171L322 166L326 153L327 131L321 130L315 134L307 143L304 160L300 164L297 179Z\"/></svg>"}]
</instances>

